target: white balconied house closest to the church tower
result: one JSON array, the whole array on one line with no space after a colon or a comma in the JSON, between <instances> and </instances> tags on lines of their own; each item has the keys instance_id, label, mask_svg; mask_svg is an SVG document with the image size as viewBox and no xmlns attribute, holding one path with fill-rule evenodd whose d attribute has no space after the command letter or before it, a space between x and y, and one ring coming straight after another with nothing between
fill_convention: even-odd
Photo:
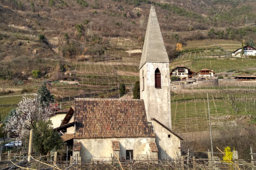
<instances>
[{"instance_id":1,"label":"white balconied house closest to the church tower","mask_svg":"<svg viewBox=\"0 0 256 170\"><path fill-rule=\"evenodd\" d=\"M171 73L170 76L178 76L180 77L181 81L184 80L188 80L188 78L192 78L192 75L195 72L192 72L189 68L184 67L184 66L178 66L176 68L174 68Z\"/></svg>"}]
</instances>

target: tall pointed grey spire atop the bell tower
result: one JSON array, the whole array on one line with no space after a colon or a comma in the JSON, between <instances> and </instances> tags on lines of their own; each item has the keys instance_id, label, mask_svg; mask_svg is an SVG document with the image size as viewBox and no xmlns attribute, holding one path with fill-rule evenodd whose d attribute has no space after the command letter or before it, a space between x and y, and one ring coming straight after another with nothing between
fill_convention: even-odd
<instances>
[{"instance_id":1,"label":"tall pointed grey spire atop the bell tower","mask_svg":"<svg viewBox=\"0 0 256 170\"><path fill-rule=\"evenodd\" d=\"M139 69L142 68L146 62L169 63L169 58L165 49L160 26L156 17L155 7L153 5L151 6L148 17L148 26Z\"/></svg>"}]
</instances>

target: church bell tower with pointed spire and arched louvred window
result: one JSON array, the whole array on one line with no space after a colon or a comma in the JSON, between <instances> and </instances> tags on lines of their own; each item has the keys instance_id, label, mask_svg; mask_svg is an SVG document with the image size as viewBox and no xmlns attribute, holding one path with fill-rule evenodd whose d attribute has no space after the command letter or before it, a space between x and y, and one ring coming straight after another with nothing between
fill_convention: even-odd
<instances>
[{"instance_id":1,"label":"church bell tower with pointed spire and arched louvred window","mask_svg":"<svg viewBox=\"0 0 256 170\"><path fill-rule=\"evenodd\" d=\"M171 129L169 58L151 6L141 60L139 64L140 99L144 100L148 122L157 119Z\"/></svg>"}]
</instances>

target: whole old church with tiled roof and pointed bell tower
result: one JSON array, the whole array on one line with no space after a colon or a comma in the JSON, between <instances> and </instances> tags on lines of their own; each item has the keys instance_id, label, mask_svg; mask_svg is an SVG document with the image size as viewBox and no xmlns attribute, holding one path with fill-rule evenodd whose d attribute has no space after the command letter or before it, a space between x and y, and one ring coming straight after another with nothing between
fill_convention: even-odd
<instances>
[{"instance_id":1,"label":"whole old church with tiled roof and pointed bell tower","mask_svg":"<svg viewBox=\"0 0 256 170\"><path fill-rule=\"evenodd\" d=\"M171 128L169 58L151 6L139 65L140 99L75 98L56 129L79 161L178 159Z\"/></svg>"}]
</instances>

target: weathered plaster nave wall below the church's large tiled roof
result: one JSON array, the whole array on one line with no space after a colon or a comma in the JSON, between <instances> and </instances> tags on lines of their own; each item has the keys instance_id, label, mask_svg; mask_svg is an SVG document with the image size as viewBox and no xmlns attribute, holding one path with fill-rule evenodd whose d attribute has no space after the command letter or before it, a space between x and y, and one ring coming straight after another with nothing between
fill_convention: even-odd
<instances>
[{"instance_id":1,"label":"weathered plaster nave wall below the church's large tiled roof","mask_svg":"<svg viewBox=\"0 0 256 170\"><path fill-rule=\"evenodd\" d=\"M81 141L80 156L82 161L111 160L112 141L119 141L121 159L126 159L126 150L133 150L134 159L147 158L151 155L148 142L155 142L155 138L105 138L105 139L74 139ZM93 158L93 159L92 159ZM152 157L157 159L157 157Z\"/></svg>"}]
</instances>

